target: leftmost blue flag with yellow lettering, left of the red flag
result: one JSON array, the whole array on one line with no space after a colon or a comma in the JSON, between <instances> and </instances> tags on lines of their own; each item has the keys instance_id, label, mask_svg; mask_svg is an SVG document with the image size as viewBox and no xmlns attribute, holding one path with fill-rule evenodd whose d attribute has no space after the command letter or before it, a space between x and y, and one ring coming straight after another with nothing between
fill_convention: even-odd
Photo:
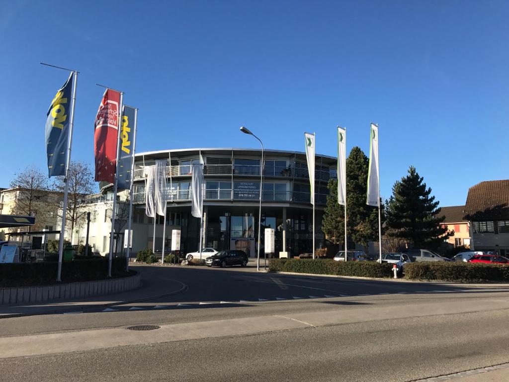
<instances>
[{"instance_id":1,"label":"leftmost blue flag with yellow lettering, left of the red flag","mask_svg":"<svg viewBox=\"0 0 509 382\"><path fill-rule=\"evenodd\" d=\"M46 120L46 152L48 154L48 176L65 175L67 143L71 121L72 78L57 92L48 109Z\"/></svg>"}]
</instances>

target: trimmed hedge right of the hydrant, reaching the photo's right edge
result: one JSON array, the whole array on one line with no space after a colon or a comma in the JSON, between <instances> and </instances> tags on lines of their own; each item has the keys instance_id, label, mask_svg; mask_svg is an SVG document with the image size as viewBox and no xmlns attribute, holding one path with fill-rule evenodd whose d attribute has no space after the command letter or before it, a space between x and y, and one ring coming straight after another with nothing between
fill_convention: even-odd
<instances>
[{"instance_id":1,"label":"trimmed hedge right of the hydrant, reaching the photo's right edge","mask_svg":"<svg viewBox=\"0 0 509 382\"><path fill-rule=\"evenodd\" d=\"M509 282L509 266L465 262L414 262L405 264L405 279L457 282Z\"/></svg>"}]
</instances>

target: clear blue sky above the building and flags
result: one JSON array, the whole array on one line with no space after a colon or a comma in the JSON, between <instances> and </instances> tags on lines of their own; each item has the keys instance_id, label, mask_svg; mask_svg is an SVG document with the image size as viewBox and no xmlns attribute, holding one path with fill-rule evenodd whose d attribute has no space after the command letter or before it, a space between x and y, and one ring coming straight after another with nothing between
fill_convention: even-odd
<instances>
[{"instance_id":1,"label":"clear blue sky above the building and flags","mask_svg":"<svg viewBox=\"0 0 509 382\"><path fill-rule=\"evenodd\" d=\"M251 147L369 150L379 124L381 195L410 165L440 205L506 179L509 3L147 1L0 3L0 186L46 171L47 107L81 72L72 158L93 163L103 90L139 108L136 151Z\"/></svg>"}]
</instances>

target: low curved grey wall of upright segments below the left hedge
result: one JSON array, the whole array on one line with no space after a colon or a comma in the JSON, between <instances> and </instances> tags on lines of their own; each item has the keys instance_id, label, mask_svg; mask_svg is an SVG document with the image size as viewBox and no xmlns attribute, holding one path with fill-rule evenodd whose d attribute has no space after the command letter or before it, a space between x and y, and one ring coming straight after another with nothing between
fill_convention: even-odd
<instances>
[{"instance_id":1,"label":"low curved grey wall of upright segments below the left hedge","mask_svg":"<svg viewBox=\"0 0 509 382\"><path fill-rule=\"evenodd\" d=\"M119 279L0 288L0 304L41 303L50 300L98 296L135 289L141 284L141 277L139 274L136 274Z\"/></svg>"}]
</instances>

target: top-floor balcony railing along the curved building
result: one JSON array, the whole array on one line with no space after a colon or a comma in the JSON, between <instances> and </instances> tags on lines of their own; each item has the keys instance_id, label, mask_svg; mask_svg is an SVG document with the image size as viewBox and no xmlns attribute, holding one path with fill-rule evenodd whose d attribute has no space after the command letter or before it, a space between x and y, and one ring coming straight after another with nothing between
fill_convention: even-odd
<instances>
[{"instance_id":1,"label":"top-floor balcony railing along the curved building","mask_svg":"<svg viewBox=\"0 0 509 382\"><path fill-rule=\"evenodd\" d=\"M204 165L204 175L243 175L260 176L260 166L248 165ZM166 166L166 176L189 176L191 175L191 166ZM265 177L277 178L298 178L309 179L307 169L295 167L273 167L266 166L264 170ZM328 181L333 178L328 171L316 170L315 180ZM143 179L144 169L134 170L134 179Z\"/></svg>"}]
</instances>

